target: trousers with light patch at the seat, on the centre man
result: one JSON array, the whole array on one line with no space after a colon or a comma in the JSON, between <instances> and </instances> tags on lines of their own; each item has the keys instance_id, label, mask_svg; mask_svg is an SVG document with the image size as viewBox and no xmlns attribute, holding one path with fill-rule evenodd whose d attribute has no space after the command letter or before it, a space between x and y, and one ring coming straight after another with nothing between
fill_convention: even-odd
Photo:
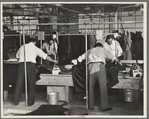
<instances>
[{"instance_id":1,"label":"trousers with light patch at the seat, on the centre man","mask_svg":"<svg viewBox=\"0 0 149 119\"><path fill-rule=\"evenodd\" d=\"M107 79L106 79L106 69L103 63L90 63L88 65L88 86L89 86L89 97L88 97L88 107L89 109L94 109L94 86L96 81L99 83L100 88L100 106L101 110L108 108L108 94L107 94Z\"/></svg>"}]
</instances>

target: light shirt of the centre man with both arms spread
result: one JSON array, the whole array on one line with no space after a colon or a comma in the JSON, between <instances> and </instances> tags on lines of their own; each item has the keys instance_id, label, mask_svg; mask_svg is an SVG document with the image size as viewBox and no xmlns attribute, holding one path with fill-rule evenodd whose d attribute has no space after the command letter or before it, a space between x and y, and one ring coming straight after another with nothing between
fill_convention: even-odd
<instances>
[{"instance_id":1,"label":"light shirt of the centre man with both arms spread","mask_svg":"<svg viewBox=\"0 0 149 119\"><path fill-rule=\"evenodd\" d=\"M105 50L102 47L95 47L88 50L86 53L78 57L78 61L82 62L86 58L86 55L87 55L88 63L102 62L105 64L106 59L111 59L112 61L116 59L114 55L112 55L109 51Z\"/></svg>"}]
</instances>

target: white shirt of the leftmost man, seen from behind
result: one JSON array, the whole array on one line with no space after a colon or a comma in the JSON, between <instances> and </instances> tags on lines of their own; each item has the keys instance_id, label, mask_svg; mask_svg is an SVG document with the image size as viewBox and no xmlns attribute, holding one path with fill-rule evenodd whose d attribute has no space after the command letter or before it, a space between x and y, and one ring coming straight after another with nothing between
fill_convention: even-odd
<instances>
[{"instance_id":1,"label":"white shirt of the leftmost man, seen from behind","mask_svg":"<svg viewBox=\"0 0 149 119\"><path fill-rule=\"evenodd\" d=\"M25 44L25 55L26 55L26 62L36 63L36 57L42 57L44 60L47 57L41 49L36 47L33 42ZM22 45L17 54L16 58L19 58L19 62L24 62L24 46Z\"/></svg>"}]
</instances>

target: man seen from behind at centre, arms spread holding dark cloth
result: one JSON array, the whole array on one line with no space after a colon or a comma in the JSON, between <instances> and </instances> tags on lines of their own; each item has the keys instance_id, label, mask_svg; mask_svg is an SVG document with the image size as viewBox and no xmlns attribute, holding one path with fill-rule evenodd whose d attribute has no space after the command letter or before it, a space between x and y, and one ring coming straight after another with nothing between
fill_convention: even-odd
<instances>
[{"instance_id":1,"label":"man seen from behind at centre, arms spread holding dark cloth","mask_svg":"<svg viewBox=\"0 0 149 119\"><path fill-rule=\"evenodd\" d=\"M106 51L103 48L101 43L96 43L95 47L88 50L83 55L79 56L77 59L72 60L74 65L77 65L78 62L85 60L87 56L88 64L88 86L89 86L89 97L88 97L88 106L89 109L94 109L94 85L96 81L99 83L100 88L100 105L102 111L110 111L112 108L108 106L108 94L107 94L107 79L106 79L106 69L105 69L105 60L111 59L117 61L110 52Z\"/></svg>"}]
</instances>

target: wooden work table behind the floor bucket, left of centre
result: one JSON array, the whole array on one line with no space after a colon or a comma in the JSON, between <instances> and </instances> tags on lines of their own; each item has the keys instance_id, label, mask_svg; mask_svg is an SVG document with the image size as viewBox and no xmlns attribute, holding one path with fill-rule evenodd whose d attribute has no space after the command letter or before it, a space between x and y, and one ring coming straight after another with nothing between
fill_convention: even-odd
<instances>
[{"instance_id":1,"label":"wooden work table behind the floor bucket, left of centre","mask_svg":"<svg viewBox=\"0 0 149 119\"><path fill-rule=\"evenodd\" d=\"M47 95L50 92L59 92L59 100L66 101L73 97L73 80L72 75L66 74L41 74L40 80L36 82L36 85L46 85Z\"/></svg>"}]
</instances>

